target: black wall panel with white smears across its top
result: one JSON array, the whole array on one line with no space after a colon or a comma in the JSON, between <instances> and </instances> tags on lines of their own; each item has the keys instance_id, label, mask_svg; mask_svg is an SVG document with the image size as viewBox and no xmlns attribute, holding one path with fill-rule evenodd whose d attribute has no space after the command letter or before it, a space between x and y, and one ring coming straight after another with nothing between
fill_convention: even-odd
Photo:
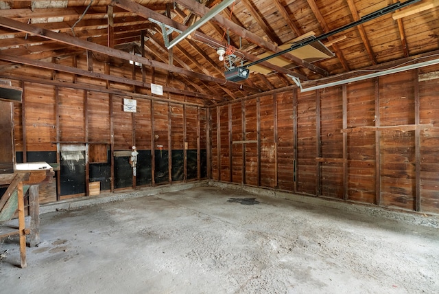
<instances>
[{"instance_id":1,"label":"black wall panel with white smears across its top","mask_svg":"<svg viewBox=\"0 0 439 294\"><path fill-rule=\"evenodd\" d=\"M61 160L61 195L85 193L85 152L78 152L82 153L82 159Z\"/></svg>"}]
</instances>

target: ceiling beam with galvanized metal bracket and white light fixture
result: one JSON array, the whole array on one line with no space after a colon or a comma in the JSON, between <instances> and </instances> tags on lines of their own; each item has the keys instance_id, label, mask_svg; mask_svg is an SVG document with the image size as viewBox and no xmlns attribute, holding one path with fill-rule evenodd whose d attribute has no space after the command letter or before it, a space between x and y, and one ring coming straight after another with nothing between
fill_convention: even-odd
<instances>
[{"instance_id":1,"label":"ceiling beam with galvanized metal bracket and white light fixture","mask_svg":"<svg viewBox=\"0 0 439 294\"><path fill-rule=\"evenodd\" d=\"M180 31L184 31L187 29L186 25L182 25L181 23L178 23L172 19L167 18L163 14L154 12L153 10L150 10L150 9L146 8L145 6L142 6L138 3L134 3L134 2L128 1L128 0L112 0L112 3L114 3L115 5L123 8L123 9L129 10L131 12L135 12L136 14L143 16L145 19L151 18L151 19L154 19L156 21L160 21L161 23L164 23L165 25L169 25L170 27L174 27ZM214 38L211 38L210 36L207 36L206 34L202 34L198 31L194 32L192 38L194 38L202 43L209 44L213 47L226 47L226 43L224 43L222 41L217 41ZM247 52L243 52L240 50L237 50L236 52L237 52L237 54L244 56L244 58L246 58L247 60L250 60L250 61L259 60L259 58L257 58L256 56L248 54ZM291 76L295 76L296 78L300 78L300 80L308 80L308 78L306 76L303 76L302 74L298 74L298 73L296 73L296 71L284 69L283 67L278 67L276 65L272 65L272 63L269 63L266 61L259 63L259 64L263 65L264 67L267 67L269 69L272 69L274 71L278 71L281 74L289 74Z\"/></svg>"}]
</instances>

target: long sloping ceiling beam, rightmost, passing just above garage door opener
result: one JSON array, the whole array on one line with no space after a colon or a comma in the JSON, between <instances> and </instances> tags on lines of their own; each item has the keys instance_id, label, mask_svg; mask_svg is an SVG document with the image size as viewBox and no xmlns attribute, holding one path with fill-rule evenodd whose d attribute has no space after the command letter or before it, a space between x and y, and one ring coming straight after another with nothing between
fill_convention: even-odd
<instances>
[{"instance_id":1,"label":"long sloping ceiling beam, rightmost, passing just above garage door opener","mask_svg":"<svg viewBox=\"0 0 439 294\"><path fill-rule=\"evenodd\" d=\"M116 1L116 0L113 0L113 1ZM119 1L127 1L127 0L119 0ZM198 3L195 0L176 0L176 2L180 3L181 5L184 5L185 7L187 7L189 10L191 10L195 14L199 14L201 16L209 12L209 8L206 8L206 6ZM251 43L255 43L255 44L257 44L261 47L264 47L266 49L269 49L270 51L275 52L275 53L282 51L276 45L265 41L260 36L257 36L257 34L254 34L250 31L244 29L244 27L240 27L236 23L233 23L233 21L229 21L228 19L224 18L221 15L216 15L215 17L213 17L213 20L217 21L217 23L228 28L228 30L234 32L235 34L237 34L243 38L246 38ZM282 56L284 58L286 58L287 60L291 60L293 63L296 63L296 65L301 65L302 67L306 67L307 69L310 69L313 72L321 74L322 76L329 76L329 73L327 71L325 71L324 69L321 69L320 67L318 67L316 65L308 63L307 61L302 60L302 59L298 58L297 56L294 56L294 55L289 54L289 53L282 54ZM260 65L262 65L262 64L260 63Z\"/></svg>"}]
</instances>

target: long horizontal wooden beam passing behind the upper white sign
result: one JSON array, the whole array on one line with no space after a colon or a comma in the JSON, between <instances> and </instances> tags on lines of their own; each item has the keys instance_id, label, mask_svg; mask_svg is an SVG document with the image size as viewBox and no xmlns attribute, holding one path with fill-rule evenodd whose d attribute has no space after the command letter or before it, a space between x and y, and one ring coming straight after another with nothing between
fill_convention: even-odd
<instances>
[{"instance_id":1,"label":"long horizontal wooden beam passing behind the upper white sign","mask_svg":"<svg viewBox=\"0 0 439 294\"><path fill-rule=\"evenodd\" d=\"M69 73L69 74L75 74L75 75L79 75L79 76L87 76L89 78L99 78L102 80L109 80L111 82L120 82L122 84L131 84L134 86L151 89L150 83L141 82L139 80L121 78L118 76L102 74L102 73L94 72L94 71L86 71L83 69L78 69L76 67L68 67L67 65L58 65L56 63L49 63L47 61L33 60L33 59L29 59L29 58L24 58L24 57L12 56L12 55L8 55L8 54L3 54L2 52L0 52L0 59L8 60L8 61L11 61L13 63L21 63L23 65L32 65L34 67L41 67L41 68L51 69L51 70L55 70L55 71L62 71L62 72ZM219 97L219 96L208 95L208 94L204 94L204 93L196 93L196 92L191 92L191 91L186 91L186 90L180 90L180 89L175 89L175 88L167 87L167 86L163 86L163 91L169 92L169 93L177 93L180 95L187 95L187 96L196 97L196 98L224 101L224 98Z\"/></svg>"}]
</instances>

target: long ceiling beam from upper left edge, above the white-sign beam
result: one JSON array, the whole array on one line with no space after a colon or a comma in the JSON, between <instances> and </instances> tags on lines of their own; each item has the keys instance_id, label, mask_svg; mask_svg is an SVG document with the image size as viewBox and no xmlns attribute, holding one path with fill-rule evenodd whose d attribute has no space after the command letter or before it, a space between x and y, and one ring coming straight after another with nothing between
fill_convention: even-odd
<instances>
[{"instance_id":1,"label":"long ceiling beam from upper left edge, above the white-sign beam","mask_svg":"<svg viewBox=\"0 0 439 294\"><path fill-rule=\"evenodd\" d=\"M108 48L104 45L99 45L91 42L87 42L78 38L74 38L72 36L69 36L67 34L61 34L52 32L50 30L45 30L41 27L36 27L34 25L28 25L26 23L21 23L19 21L14 21L12 19L5 18L3 16L0 16L0 25L3 27L8 27L12 30L18 30L21 32L27 32L29 34L36 34L38 36L43 36L44 38L49 38L54 41L58 41L61 43L69 44L75 47L81 47L83 49L91 50L94 52L99 52L102 54L106 54L108 56L121 58L124 60L133 60L137 61L138 63L150 66L150 67L156 67L160 69L165 69L167 71L171 71L177 74L182 74L185 76L189 76L191 78L199 78L200 80L205 80L207 82L216 82L219 84L227 84L228 87L236 87L241 89L246 89L247 91L254 91L254 92L260 92L259 89L254 89L251 87L248 87L243 84L238 84L236 82L230 82L228 80L215 78L212 76L206 76L204 74L199 74L194 71L188 71L186 69L182 69L180 67L174 67L172 65L167 65L165 63L159 63L155 60L150 60L141 56L135 56L128 52L123 52L117 49Z\"/></svg>"}]
</instances>

